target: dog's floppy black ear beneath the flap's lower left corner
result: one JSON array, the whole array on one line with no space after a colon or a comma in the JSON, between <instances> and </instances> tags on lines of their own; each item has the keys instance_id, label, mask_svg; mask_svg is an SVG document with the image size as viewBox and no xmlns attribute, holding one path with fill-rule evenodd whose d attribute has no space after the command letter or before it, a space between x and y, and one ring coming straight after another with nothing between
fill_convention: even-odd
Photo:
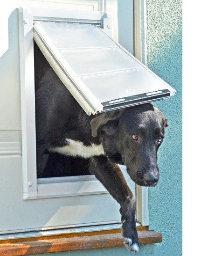
<instances>
[{"instance_id":1,"label":"dog's floppy black ear beneath the flap's lower left corner","mask_svg":"<svg viewBox=\"0 0 215 256\"><path fill-rule=\"evenodd\" d=\"M122 111L123 110L105 112L93 118L90 122L92 136L97 137L100 131L105 132L109 136L113 135L119 124Z\"/></svg>"}]
</instances>

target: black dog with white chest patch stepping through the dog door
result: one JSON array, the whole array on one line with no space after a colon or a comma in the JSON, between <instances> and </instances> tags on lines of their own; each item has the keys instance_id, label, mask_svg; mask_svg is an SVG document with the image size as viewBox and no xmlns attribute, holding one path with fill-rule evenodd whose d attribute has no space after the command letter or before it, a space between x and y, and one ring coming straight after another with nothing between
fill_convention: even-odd
<instances>
[{"instance_id":1,"label":"black dog with white chest patch stepping through the dog door","mask_svg":"<svg viewBox=\"0 0 215 256\"><path fill-rule=\"evenodd\" d=\"M37 173L47 151L88 159L89 171L120 204L125 246L137 252L135 199L118 166L141 186L159 180L157 151L167 119L152 104L87 116L35 44Z\"/></svg>"}]
</instances>

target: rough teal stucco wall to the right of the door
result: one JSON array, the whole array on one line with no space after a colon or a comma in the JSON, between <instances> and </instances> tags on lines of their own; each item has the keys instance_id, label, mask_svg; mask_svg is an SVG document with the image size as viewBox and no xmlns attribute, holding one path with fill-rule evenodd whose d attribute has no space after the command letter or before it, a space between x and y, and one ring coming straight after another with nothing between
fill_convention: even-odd
<instances>
[{"instance_id":1,"label":"rough teal stucco wall to the right of the door","mask_svg":"<svg viewBox=\"0 0 215 256\"><path fill-rule=\"evenodd\" d=\"M125 5L126 2L126 5ZM132 7L131 0L118 0L121 10ZM181 0L148 0L148 66L177 90L170 99L156 102L169 120L166 139L159 149L160 181L149 189L150 229L163 234L163 242L141 246L138 255L180 256L182 227L182 24ZM126 22L132 18L128 13ZM119 43L124 41L125 16L118 15ZM126 23L125 22L125 23ZM131 26L130 26L131 27ZM132 34L131 28L127 33ZM121 33L121 34L120 34ZM125 40L126 41L126 40ZM127 44L127 45L126 45ZM132 51L132 42L125 47ZM47 256L131 255L124 247L47 254Z\"/></svg>"}]
</instances>

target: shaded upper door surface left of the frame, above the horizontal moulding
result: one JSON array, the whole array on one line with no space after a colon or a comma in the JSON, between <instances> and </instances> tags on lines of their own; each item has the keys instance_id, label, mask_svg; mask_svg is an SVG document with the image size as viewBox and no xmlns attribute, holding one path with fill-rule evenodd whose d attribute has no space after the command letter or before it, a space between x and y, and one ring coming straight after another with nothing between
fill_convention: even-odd
<instances>
[{"instance_id":1,"label":"shaded upper door surface left of the frame, above the horizontal moulding","mask_svg":"<svg viewBox=\"0 0 215 256\"><path fill-rule=\"evenodd\" d=\"M21 130L18 9L8 18L8 50L0 57L0 130ZM8 88L10 88L8 90ZM7 111L6 111L7 110Z\"/></svg>"}]
</instances>

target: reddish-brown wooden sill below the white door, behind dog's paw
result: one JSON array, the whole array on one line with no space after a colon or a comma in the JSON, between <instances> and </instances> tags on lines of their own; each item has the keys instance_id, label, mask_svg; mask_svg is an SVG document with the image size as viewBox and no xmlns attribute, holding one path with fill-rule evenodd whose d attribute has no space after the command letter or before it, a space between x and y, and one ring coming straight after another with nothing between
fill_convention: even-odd
<instances>
[{"instance_id":1,"label":"reddish-brown wooden sill below the white door, behind dog's paw","mask_svg":"<svg viewBox=\"0 0 215 256\"><path fill-rule=\"evenodd\" d=\"M160 233L146 230L146 227L138 227L137 229L140 245L162 241L162 234ZM116 246L123 246L120 229L4 240L0 241L0 256L34 255Z\"/></svg>"}]
</instances>

